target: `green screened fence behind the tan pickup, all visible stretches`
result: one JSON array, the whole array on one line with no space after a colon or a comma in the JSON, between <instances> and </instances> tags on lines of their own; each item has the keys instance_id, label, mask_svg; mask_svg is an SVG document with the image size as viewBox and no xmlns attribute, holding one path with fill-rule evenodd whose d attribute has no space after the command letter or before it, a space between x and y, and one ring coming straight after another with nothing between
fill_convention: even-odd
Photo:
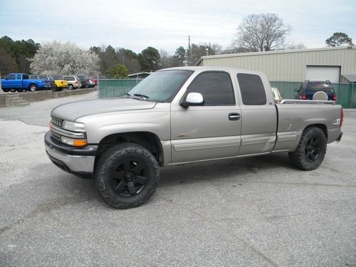
<instances>
[{"instance_id":1,"label":"green screened fence behind the tan pickup, all visible stretches","mask_svg":"<svg viewBox=\"0 0 356 267\"><path fill-rule=\"evenodd\" d=\"M99 80L99 98L117 98L125 95L142 79L103 79ZM295 88L302 82L271 81L271 86L278 88L284 99L295 99ZM333 83L337 95L337 104L342 108L356 108L356 83Z\"/></svg>"}]
</instances>

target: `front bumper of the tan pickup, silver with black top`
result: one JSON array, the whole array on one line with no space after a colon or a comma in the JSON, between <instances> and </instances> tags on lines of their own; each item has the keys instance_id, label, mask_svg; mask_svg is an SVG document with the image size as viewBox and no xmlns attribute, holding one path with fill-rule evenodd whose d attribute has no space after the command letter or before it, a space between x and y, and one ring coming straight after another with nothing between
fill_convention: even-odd
<instances>
[{"instance_id":1,"label":"front bumper of the tan pickup, silver with black top","mask_svg":"<svg viewBox=\"0 0 356 267\"><path fill-rule=\"evenodd\" d=\"M93 173L98 145L70 147L54 140L51 137L51 131L46 133L44 141L47 155L57 167L71 174Z\"/></svg>"}]
</instances>

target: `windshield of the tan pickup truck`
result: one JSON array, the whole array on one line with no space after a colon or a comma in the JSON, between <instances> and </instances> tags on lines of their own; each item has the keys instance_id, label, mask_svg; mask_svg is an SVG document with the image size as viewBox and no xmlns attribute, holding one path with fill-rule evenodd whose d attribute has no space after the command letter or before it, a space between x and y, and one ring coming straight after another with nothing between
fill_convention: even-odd
<instances>
[{"instance_id":1,"label":"windshield of the tan pickup truck","mask_svg":"<svg viewBox=\"0 0 356 267\"><path fill-rule=\"evenodd\" d=\"M169 103L192 73L192 70L157 71L132 88L128 95L142 95L145 100Z\"/></svg>"}]
</instances>

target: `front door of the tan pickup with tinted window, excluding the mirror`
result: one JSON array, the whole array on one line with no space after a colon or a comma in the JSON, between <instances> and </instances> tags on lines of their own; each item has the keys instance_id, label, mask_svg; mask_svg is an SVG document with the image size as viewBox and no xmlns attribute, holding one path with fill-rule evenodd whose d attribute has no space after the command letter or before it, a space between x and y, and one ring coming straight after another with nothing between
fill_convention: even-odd
<instances>
[{"instance_id":1,"label":"front door of the tan pickup with tinted window, excluding the mirror","mask_svg":"<svg viewBox=\"0 0 356 267\"><path fill-rule=\"evenodd\" d=\"M171 104L172 163L238 155L240 107L231 74L209 70L194 73L189 80ZM187 93L201 93L204 105L179 105Z\"/></svg>"}]
</instances>

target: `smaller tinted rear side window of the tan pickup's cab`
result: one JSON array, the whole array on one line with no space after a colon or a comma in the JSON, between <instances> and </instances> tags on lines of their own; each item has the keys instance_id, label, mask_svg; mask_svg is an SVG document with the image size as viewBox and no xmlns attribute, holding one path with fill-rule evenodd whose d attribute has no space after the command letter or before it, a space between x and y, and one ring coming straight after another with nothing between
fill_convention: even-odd
<instances>
[{"instance_id":1,"label":"smaller tinted rear side window of the tan pickup's cab","mask_svg":"<svg viewBox=\"0 0 356 267\"><path fill-rule=\"evenodd\" d=\"M266 91L260 76L238 73L237 80L239 80L244 105L266 105Z\"/></svg>"}]
</instances>

